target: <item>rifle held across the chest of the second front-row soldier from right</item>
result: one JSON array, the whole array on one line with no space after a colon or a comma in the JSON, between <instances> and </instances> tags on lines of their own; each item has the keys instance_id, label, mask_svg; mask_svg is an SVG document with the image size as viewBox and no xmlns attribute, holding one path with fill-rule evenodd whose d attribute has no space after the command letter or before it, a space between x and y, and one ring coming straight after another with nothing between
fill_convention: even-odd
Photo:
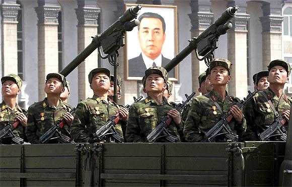
<instances>
[{"instance_id":1,"label":"rifle held across the chest of the second front-row soldier from right","mask_svg":"<svg viewBox=\"0 0 292 187\"><path fill-rule=\"evenodd\" d=\"M256 89L254 92L248 91L248 96L244 98L244 100L238 102L236 106L242 109L249 102L249 100L251 100L251 98L256 95L258 91L258 89ZM227 113L224 113L220 118L221 119L205 134L205 139L209 142L214 142L216 136L225 135L232 141L238 141L238 135L233 134L230 126L228 125L228 123L233 118L230 110Z\"/></svg>"}]
</instances>

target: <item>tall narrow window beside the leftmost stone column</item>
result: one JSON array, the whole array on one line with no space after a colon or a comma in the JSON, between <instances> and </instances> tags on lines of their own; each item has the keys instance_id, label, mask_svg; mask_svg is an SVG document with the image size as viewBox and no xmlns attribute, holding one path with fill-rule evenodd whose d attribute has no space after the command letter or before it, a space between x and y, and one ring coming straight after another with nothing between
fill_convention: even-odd
<instances>
[{"instance_id":1,"label":"tall narrow window beside the leftmost stone column","mask_svg":"<svg viewBox=\"0 0 292 187\"><path fill-rule=\"evenodd\" d=\"M18 64L18 76L24 80L23 76L23 24L22 24L22 6L19 2L20 9L18 10L17 17L17 64Z\"/></svg>"}]
</instances>

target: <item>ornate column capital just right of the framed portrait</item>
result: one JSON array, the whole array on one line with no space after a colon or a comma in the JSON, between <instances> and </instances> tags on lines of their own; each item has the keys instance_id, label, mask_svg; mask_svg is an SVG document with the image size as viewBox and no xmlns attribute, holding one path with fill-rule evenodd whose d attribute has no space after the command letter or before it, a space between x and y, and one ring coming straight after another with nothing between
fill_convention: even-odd
<instances>
[{"instance_id":1,"label":"ornate column capital just right of the framed portrait","mask_svg":"<svg viewBox=\"0 0 292 187\"><path fill-rule=\"evenodd\" d=\"M193 0L190 3L191 14L188 14L192 28L191 30L205 30L213 23L214 14L210 12L210 1Z\"/></svg>"}]
</instances>

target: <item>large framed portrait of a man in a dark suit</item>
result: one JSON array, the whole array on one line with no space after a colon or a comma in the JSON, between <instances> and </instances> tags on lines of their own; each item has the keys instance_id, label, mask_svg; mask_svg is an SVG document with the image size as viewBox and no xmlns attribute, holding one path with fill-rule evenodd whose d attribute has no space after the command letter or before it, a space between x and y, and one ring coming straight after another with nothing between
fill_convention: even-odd
<instances>
[{"instance_id":1,"label":"large framed portrait of a man in a dark suit","mask_svg":"<svg viewBox=\"0 0 292 187\"><path fill-rule=\"evenodd\" d=\"M129 9L135 4L125 4ZM151 66L168 64L177 54L177 7L141 5L137 19L140 25L126 32L124 74L127 80L141 80ZM178 68L168 72L170 80L178 79Z\"/></svg>"}]
</instances>

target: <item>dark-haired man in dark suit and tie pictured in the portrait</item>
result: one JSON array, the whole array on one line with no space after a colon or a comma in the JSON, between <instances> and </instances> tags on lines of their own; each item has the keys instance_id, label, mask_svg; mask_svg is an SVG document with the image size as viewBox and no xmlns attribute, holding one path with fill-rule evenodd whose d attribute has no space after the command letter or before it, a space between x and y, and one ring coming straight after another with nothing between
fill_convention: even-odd
<instances>
[{"instance_id":1,"label":"dark-haired man in dark suit and tie pictured in the portrait","mask_svg":"<svg viewBox=\"0 0 292 187\"><path fill-rule=\"evenodd\" d=\"M164 67L171 61L171 58L164 56L165 54L162 50L168 47L165 46L166 38L169 37L169 40L171 39L171 36L166 34L167 23L165 19L158 13L148 11L138 15L138 20L140 24L137 26L135 35L138 43L137 48L140 51L133 58L128 58L128 77L142 77L145 70L151 66ZM168 32L174 33L174 31ZM174 46L170 47L174 49ZM128 52L131 51L128 50ZM174 54L168 53L166 55L172 57ZM169 77L175 77L174 72L174 69L171 70Z\"/></svg>"}]
</instances>

